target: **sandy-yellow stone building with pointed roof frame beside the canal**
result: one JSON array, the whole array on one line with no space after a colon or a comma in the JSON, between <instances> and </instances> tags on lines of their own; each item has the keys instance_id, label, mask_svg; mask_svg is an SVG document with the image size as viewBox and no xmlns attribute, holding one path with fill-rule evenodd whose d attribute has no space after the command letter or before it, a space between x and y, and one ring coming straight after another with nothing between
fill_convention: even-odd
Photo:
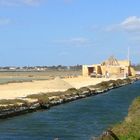
<instances>
[{"instance_id":1,"label":"sandy-yellow stone building with pointed roof frame beside the canal","mask_svg":"<svg viewBox=\"0 0 140 140\"><path fill-rule=\"evenodd\" d=\"M131 67L131 62L128 60L117 60L111 56L108 60L101 64L83 65L83 76L95 76L95 77L127 77L135 76L136 72Z\"/></svg>"}]
</instances>

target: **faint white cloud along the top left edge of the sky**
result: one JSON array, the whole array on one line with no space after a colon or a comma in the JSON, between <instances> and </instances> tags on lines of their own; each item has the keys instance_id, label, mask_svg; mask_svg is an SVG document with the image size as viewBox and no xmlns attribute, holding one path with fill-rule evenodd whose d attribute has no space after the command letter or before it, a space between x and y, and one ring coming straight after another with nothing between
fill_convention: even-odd
<instances>
[{"instance_id":1,"label":"faint white cloud along the top left edge of the sky","mask_svg":"<svg viewBox=\"0 0 140 140\"><path fill-rule=\"evenodd\" d=\"M41 0L0 0L0 5L4 6L18 6L21 4L25 5L38 5Z\"/></svg>"}]
</instances>

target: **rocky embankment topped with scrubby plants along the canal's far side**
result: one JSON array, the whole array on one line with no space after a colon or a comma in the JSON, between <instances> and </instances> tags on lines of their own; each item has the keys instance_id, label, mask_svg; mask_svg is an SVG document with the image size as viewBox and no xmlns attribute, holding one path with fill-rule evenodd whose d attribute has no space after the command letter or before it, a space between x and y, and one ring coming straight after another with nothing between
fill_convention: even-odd
<instances>
[{"instance_id":1,"label":"rocky embankment topped with scrubby plants along the canal's far side","mask_svg":"<svg viewBox=\"0 0 140 140\"><path fill-rule=\"evenodd\" d=\"M0 119L34 112L40 109L49 109L52 106L71 102L77 99L104 93L108 90L131 84L140 78L127 78L101 82L97 85L71 88L65 92L39 93L26 98L0 100Z\"/></svg>"}]
</instances>

